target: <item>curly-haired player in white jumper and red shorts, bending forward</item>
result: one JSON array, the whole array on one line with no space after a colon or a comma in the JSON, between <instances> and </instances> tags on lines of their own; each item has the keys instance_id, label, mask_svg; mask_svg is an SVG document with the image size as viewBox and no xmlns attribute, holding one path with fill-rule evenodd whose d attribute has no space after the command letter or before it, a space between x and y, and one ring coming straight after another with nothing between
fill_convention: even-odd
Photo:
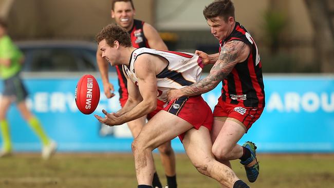
<instances>
[{"instance_id":1,"label":"curly-haired player in white jumper and red shorts, bending forward","mask_svg":"<svg viewBox=\"0 0 334 188\"><path fill-rule=\"evenodd\" d=\"M95 115L101 123L121 125L142 117L156 108L157 97L166 101L166 93L171 88L182 88L200 79L203 63L196 54L134 48L128 33L116 25L106 26L96 40L103 58L112 66L123 65L129 92L121 110L111 114L102 110L104 118ZM153 149L176 136L200 173L227 187L248 187L231 168L216 161L212 155L212 121L212 111L200 95L169 101L132 143L138 188L152 187Z\"/></svg>"}]
</instances>

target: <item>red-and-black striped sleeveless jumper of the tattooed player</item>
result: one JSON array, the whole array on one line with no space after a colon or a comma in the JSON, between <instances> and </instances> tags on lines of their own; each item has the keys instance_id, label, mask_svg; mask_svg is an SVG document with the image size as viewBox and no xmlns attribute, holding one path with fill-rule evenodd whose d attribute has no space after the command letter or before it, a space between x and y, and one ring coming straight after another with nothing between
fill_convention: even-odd
<instances>
[{"instance_id":1,"label":"red-and-black striped sleeveless jumper of the tattooed player","mask_svg":"<svg viewBox=\"0 0 334 188\"><path fill-rule=\"evenodd\" d=\"M249 57L237 63L230 74L222 81L221 99L230 104L263 108L265 91L262 78L262 64L254 40L248 31L236 22L230 36L219 41L220 48L230 41L242 41L251 47Z\"/></svg>"}]
</instances>

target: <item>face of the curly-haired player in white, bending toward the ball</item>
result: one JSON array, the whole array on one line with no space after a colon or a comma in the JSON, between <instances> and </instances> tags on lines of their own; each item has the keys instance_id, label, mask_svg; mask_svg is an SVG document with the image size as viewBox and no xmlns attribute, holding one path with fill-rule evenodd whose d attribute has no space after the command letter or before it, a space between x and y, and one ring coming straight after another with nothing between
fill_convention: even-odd
<instances>
[{"instance_id":1,"label":"face of the curly-haired player in white, bending toward the ball","mask_svg":"<svg viewBox=\"0 0 334 188\"><path fill-rule=\"evenodd\" d=\"M106 40L104 39L99 43L99 49L102 51L102 58L107 60L110 63L110 65L112 66L118 65L119 52L117 50L116 45L114 47L111 47L107 44Z\"/></svg>"}]
</instances>

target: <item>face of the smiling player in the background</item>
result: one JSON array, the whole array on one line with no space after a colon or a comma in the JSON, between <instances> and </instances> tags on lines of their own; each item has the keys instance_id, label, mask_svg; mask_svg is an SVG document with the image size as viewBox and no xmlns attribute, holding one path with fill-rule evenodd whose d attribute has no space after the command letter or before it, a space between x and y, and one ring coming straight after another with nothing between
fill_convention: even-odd
<instances>
[{"instance_id":1,"label":"face of the smiling player in the background","mask_svg":"<svg viewBox=\"0 0 334 188\"><path fill-rule=\"evenodd\" d=\"M116 2L112 10L112 17L119 26L129 31L134 24L135 13L130 2Z\"/></svg>"}]
</instances>

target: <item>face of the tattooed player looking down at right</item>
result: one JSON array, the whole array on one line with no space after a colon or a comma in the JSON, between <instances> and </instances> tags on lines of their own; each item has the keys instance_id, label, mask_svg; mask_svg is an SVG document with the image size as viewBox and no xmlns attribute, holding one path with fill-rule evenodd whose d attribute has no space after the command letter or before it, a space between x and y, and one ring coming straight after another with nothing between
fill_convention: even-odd
<instances>
[{"instance_id":1,"label":"face of the tattooed player looking down at right","mask_svg":"<svg viewBox=\"0 0 334 188\"><path fill-rule=\"evenodd\" d=\"M229 17L227 22L224 20L224 17L217 16L207 20L208 25L211 28L211 33L216 39L224 40L232 32L234 26L234 18Z\"/></svg>"}]
</instances>

